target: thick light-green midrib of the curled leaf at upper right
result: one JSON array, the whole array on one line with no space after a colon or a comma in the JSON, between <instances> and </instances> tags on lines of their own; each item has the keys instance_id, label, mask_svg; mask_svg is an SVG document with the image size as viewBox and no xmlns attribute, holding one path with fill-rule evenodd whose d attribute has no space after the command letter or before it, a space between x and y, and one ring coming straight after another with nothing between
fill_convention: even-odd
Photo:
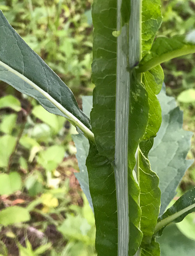
<instances>
[{"instance_id":1,"label":"thick light-green midrib of the curled leaf at upper right","mask_svg":"<svg viewBox=\"0 0 195 256\"><path fill-rule=\"evenodd\" d=\"M147 61L146 63L144 63L142 66L137 68L137 71L139 73L142 72L146 72L148 70L150 70L151 68L156 67L157 65L166 62L170 59L175 59L187 54L192 54L195 53L195 45L188 45L188 46L184 46L181 49L175 50L173 52L170 53L165 53L159 57L153 58L149 61Z\"/></svg>"}]
</instances>

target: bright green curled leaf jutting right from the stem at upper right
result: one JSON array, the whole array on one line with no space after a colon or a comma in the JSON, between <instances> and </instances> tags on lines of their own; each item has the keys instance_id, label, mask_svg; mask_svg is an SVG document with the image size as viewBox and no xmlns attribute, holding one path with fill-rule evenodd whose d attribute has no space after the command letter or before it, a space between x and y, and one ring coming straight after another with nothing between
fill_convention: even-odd
<instances>
[{"instance_id":1,"label":"bright green curled leaf jutting right from the stem at upper right","mask_svg":"<svg viewBox=\"0 0 195 256\"><path fill-rule=\"evenodd\" d=\"M192 53L195 53L195 41L187 41L185 36L158 37L151 51L141 60L138 72L145 72L162 62Z\"/></svg>"}]
</instances>

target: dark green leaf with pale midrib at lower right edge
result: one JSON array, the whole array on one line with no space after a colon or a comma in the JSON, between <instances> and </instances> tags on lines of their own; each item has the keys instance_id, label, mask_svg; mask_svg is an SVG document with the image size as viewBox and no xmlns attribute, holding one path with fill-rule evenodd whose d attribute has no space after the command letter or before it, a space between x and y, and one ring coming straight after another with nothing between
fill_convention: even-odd
<instances>
[{"instance_id":1,"label":"dark green leaf with pale midrib at lower right edge","mask_svg":"<svg viewBox=\"0 0 195 256\"><path fill-rule=\"evenodd\" d=\"M186 192L162 216L158 218L156 232L163 230L171 222L180 222L195 211L195 187Z\"/></svg>"}]
</instances>

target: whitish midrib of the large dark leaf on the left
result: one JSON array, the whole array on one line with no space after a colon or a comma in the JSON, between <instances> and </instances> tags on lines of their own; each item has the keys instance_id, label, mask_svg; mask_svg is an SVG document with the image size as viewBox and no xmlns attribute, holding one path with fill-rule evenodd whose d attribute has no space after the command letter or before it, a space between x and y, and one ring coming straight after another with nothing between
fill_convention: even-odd
<instances>
[{"instance_id":1,"label":"whitish midrib of the large dark leaf on the left","mask_svg":"<svg viewBox=\"0 0 195 256\"><path fill-rule=\"evenodd\" d=\"M11 68L4 62L0 61L0 66L4 67L7 71L13 73L15 76L19 77L29 85L31 85L35 90L37 90L40 94L42 94L45 98L47 98L51 103L53 103L64 115L67 116L72 122L74 122L78 128L92 141L95 141L94 134L87 128L77 117L75 117L72 113L70 113L67 109L65 109L56 99L52 98L47 92L42 90L37 84L32 82L30 79L26 78L24 75L20 74L15 69Z\"/></svg>"}]
</instances>

